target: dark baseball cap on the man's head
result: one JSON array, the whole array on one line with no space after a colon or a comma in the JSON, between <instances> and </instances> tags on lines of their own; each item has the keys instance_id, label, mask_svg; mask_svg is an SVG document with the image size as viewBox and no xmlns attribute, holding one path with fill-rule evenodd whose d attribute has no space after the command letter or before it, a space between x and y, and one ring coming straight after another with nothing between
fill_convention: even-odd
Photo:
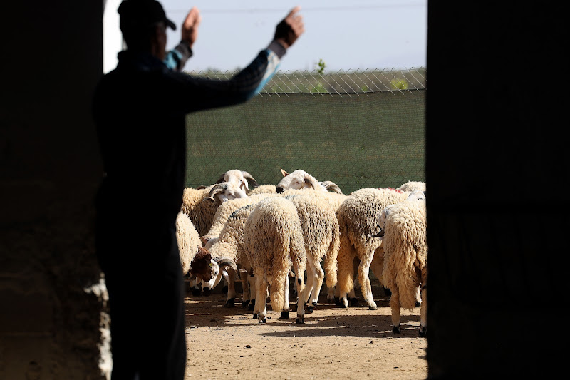
<instances>
[{"instance_id":1,"label":"dark baseball cap on the man's head","mask_svg":"<svg viewBox=\"0 0 570 380\"><path fill-rule=\"evenodd\" d=\"M156 0L123 0L118 12L120 14L120 29L138 29L164 21L172 30L176 25L167 19L165 10Z\"/></svg>"}]
</instances>

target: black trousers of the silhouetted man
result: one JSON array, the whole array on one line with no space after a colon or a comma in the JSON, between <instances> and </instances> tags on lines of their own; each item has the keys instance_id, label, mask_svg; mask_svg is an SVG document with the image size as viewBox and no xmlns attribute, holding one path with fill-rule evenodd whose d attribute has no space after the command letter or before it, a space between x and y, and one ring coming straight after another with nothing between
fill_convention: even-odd
<instances>
[{"instance_id":1,"label":"black trousers of the silhouetted man","mask_svg":"<svg viewBox=\"0 0 570 380\"><path fill-rule=\"evenodd\" d=\"M110 303L112 379L184 379L184 294L174 223L149 227L143 218L133 226L128 219L100 217L96 231Z\"/></svg>"}]
</instances>

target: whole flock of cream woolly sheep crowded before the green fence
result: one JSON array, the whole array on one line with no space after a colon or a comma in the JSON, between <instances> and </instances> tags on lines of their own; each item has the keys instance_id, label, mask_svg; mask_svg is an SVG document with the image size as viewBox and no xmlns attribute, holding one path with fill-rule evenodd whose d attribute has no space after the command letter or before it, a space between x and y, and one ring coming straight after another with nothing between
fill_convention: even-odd
<instances>
[{"instance_id":1,"label":"whole flock of cream woolly sheep crowded before the green fence","mask_svg":"<svg viewBox=\"0 0 570 380\"><path fill-rule=\"evenodd\" d=\"M185 189L176 228L192 293L207 294L223 278L225 306L233 307L238 280L242 306L266 322L267 297L280 318L289 318L294 279L296 322L302 324L317 307L323 283L330 302L349 307L356 304L358 282L368 307L378 309L372 269L389 289L393 332L400 333L400 307L421 305L419 333L425 336L425 183L345 195L304 170L281 173L276 185L259 185L249 173L229 170L217 183Z\"/></svg>"}]
</instances>

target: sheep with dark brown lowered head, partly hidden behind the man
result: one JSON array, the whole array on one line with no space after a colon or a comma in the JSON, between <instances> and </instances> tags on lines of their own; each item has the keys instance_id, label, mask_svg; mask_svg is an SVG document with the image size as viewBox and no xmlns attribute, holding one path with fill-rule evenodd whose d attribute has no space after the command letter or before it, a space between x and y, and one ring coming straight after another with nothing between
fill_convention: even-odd
<instances>
[{"instance_id":1,"label":"sheep with dark brown lowered head, partly hidden behind the man","mask_svg":"<svg viewBox=\"0 0 570 380\"><path fill-rule=\"evenodd\" d=\"M192 225L190 217L182 211L178 212L176 217L176 241L182 275L190 273L191 286L196 277L202 281L210 281L212 277L217 276L220 268L229 266L237 269L234 260L229 257L220 255L212 259L212 256L202 249L198 232ZM195 293L195 287L192 287L192 292Z\"/></svg>"}]
</instances>

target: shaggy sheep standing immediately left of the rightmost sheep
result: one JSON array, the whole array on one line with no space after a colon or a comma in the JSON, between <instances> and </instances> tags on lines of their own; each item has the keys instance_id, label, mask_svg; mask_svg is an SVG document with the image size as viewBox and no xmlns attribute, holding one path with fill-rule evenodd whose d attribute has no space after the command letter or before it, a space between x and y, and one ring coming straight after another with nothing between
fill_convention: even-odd
<instances>
[{"instance_id":1,"label":"shaggy sheep standing immediately left of the rightmost sheep","mask_svg":"<svg viewBox=\"0 0 570 380\"><path fill-rule=\"evenodd\" d=\"M370 309L378 309L373 295L368 273L373 273L384 285L383 247L381 240L372 237L377 231L380 212L393 203L405 200L409 192L394 189L363 188L352 192L338 208L337 218L341 230L341 248L338 252L338 283L336 294L343 307L348 307L350 294L354 298L354 259L358 265L358 282Z\"/></svg>"}]
</instances>

